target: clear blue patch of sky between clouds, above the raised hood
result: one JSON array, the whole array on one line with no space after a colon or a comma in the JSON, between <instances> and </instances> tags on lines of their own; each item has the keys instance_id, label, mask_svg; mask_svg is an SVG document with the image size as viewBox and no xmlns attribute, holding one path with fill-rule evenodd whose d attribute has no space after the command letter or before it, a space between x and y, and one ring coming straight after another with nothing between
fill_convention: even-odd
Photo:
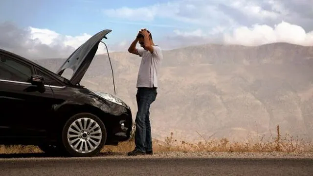
<instances>
[{"instance_id":1,"label":"clear blue patch of sky between clouds, above the raised hood","mask_svg":"<svg viewBox=\"0 0 313 176\"><path fill-rule=\"evenodd\" d=\"M30 3L31 2L31 3ZM153 22L130 22L124 19L107 17L105 9L120 7L135 8L163 3L165 0L1 0L0 21L11 21L20 27L33 26L47 28L63 35L76 36L82 33L93 34L109 28L113 32L110 39L132 39L138 29L147 27L154 34L164 34L173 31L179 23L167 20ZM17 5L18 4L18 5ZM151 25L149 25L151 24ZM157 27L153 24L172 25L172 27ZM182 25L183 26L183 25Z\"/></svg>"}]
</instances>

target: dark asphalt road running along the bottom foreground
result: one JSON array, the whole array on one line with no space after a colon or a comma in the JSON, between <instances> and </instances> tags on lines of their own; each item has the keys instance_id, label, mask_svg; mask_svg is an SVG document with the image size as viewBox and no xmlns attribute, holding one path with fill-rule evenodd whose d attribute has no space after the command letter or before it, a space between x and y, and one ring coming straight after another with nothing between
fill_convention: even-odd
<instances>
[{"instance_id":1,"label":"dark asphalt road running along the bottom foreground","mask_svg":"<svg viewBox=\"0 0 313 176\"><path fill-rule=\"evenodd\" d=\"M312 176L312 158L1 158L0 176Z\"/></svg>"}]
</instances>

